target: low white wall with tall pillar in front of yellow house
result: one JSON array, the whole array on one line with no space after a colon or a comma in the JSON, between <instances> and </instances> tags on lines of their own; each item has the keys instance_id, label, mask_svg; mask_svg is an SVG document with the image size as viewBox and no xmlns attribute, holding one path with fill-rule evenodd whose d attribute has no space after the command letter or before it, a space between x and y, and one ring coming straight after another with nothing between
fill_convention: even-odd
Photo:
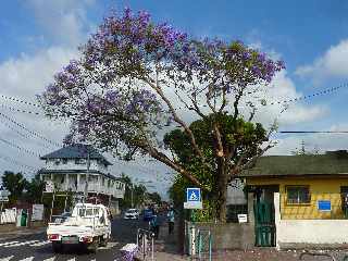
<instances>
[{"instance_id":1,"label":"low white wall with tall pillar in front of yellow house","mask_svg":"<svg viewBox=\"0 0 348 261\"><path fill-rule=\"evenodd\" d=\"M279 194L274 194L276 245L347 244L348 220L281 220Z\"/></svg>"}]
</instances>

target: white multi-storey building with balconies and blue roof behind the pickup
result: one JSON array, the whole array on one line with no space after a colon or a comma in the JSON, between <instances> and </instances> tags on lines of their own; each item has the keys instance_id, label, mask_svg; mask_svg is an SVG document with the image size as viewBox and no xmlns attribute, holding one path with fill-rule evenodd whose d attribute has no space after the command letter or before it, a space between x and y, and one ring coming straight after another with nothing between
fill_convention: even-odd
<instances>
[{"instance_id":1,"label":"white multi-storey building with balconies and blue roof behind the pickup","mask_svg":"<svg viewBox=\"0 0 348 261\"><path fill-rule=\"evenodd\" d=\"M84 195L87 188L89 197L98 197L119 211L117 199L123 198L125 185L109 173L108 167L112 164L91 146L67 146L40 159L46 161L39 171L40 177L44 182L52 182L55 191Z\"/></svg>"}]
</instances>

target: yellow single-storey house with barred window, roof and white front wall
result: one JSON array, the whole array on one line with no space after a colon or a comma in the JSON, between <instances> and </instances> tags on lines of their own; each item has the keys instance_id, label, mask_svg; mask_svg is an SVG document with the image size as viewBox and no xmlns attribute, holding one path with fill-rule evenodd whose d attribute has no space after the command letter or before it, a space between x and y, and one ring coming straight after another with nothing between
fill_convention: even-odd
<instances>
[{"instance_id":1,"label":"yellow single-storey house with barred window, roof and white front wall","mask_svg":"<svg viewBox=\"0 0 348 261\"><path fill-rule=\"evenodd\" d=\"M262 157L240 176L248 191L254 195L254 201L248 203L254 204L257 245L348 243L346 150L315 156ZM274 229L268 237L274 240L261 243L264 228L272 225Z\"/></svg>"}]
</instances>

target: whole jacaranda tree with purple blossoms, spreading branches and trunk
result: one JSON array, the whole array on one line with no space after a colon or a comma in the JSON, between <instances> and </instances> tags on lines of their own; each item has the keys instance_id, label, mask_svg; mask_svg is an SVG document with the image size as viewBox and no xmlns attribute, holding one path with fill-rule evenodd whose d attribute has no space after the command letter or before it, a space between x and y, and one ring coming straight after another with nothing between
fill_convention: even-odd
<instances>
[{"instance_id":1,"label":"whole jacaranda tree with purple blossoms, spreading branches and trunk","mask_svg":"<svg viewBox=\"0 0 348 261\"><path fill-rule=\"evenodd\" d=\"M39 96L49 116L72 120L66 141L94 142L125 159L148 154L209 189L162 147L162 129L179 126L195 157L215 173L222 206L217 217L224 221L228 181L271 145L252 156L248 147L237 149L238 137L225 137L220 119L232 115L237 129L244 102L251 111L246 121L251 122L256 107L243 98L266 86L283 62L239 41L194 39L129 9L107 17L80 52ZM208 117L214 161L206 159L189 128L192 120Z\"/></svg>"}]
</instances>

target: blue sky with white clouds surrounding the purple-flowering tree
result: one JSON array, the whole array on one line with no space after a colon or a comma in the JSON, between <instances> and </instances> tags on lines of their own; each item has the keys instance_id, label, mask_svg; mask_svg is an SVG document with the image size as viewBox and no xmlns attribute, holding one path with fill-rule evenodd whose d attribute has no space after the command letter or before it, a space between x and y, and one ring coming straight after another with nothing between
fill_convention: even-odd
<instances>
[{"instance_id":1,"label":"blue sky with white clouds surrounding the purple-flowering tree","mask_svg":"<svg viewBox=\"0 0 348 261\"><path fill-rule=\"evenodd\" d=\"M78 58L77 47L111 10L122 12L125 7L146 10L156 22L169 22L192 37L241 40L284 60L286 70L269 86L268 104L343 86L287 102L285 111L269 104L258 111L257 120L268 125L277 119L279 130L348 130L347 1L4 0L1 4L0 173L22 171L30 177L44 166L39 156L59 149L67 124L26 113L41 113L28 102L35 103L53 74ZM273 138L278 144L269 154L290 154L302 140L309 151L348 148L348 134L276 134ZM149 189L165 194L170 182L163 176L171 171L164 165L149 159L124 163L109 156L109 160L113 174L125 172L139 182L152 181L154 188Z\"/></svg>"}]
</instances>

